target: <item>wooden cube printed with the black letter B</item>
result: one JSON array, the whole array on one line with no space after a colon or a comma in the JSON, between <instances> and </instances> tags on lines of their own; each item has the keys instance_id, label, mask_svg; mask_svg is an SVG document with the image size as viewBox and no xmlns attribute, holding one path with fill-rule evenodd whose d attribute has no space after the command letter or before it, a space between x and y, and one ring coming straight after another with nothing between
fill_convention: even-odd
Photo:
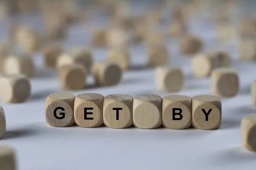
<instances>
[{"instance_id":1,"label":"wooden cube printed with the black letter B","mask_svg":"<svg viewBox=\"0 0 256 170\"><path fill-rule=\"evenodd\" d=\"M162 125L168 129L186 129L192 122L192 99L183 95L163 97Z\"/></svg>"}]
</instances>

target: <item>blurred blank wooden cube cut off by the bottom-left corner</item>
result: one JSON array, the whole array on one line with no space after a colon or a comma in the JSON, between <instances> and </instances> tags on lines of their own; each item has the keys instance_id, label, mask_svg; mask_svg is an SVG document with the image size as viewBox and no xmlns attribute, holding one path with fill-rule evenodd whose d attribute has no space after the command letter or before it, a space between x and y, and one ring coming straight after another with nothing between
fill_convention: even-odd
<instances>
[{"instance_id":1,"label":"blurred blank wooden cube cut off by the bottom-left corner","mask_svg":"<svg viewBox=\"0 0 256 170\"><path fill-rule=\"evenodd\" d=\"M17 170L15 150L10 146L0 146L1 170Z\"/></svg>"}]
</instances>

